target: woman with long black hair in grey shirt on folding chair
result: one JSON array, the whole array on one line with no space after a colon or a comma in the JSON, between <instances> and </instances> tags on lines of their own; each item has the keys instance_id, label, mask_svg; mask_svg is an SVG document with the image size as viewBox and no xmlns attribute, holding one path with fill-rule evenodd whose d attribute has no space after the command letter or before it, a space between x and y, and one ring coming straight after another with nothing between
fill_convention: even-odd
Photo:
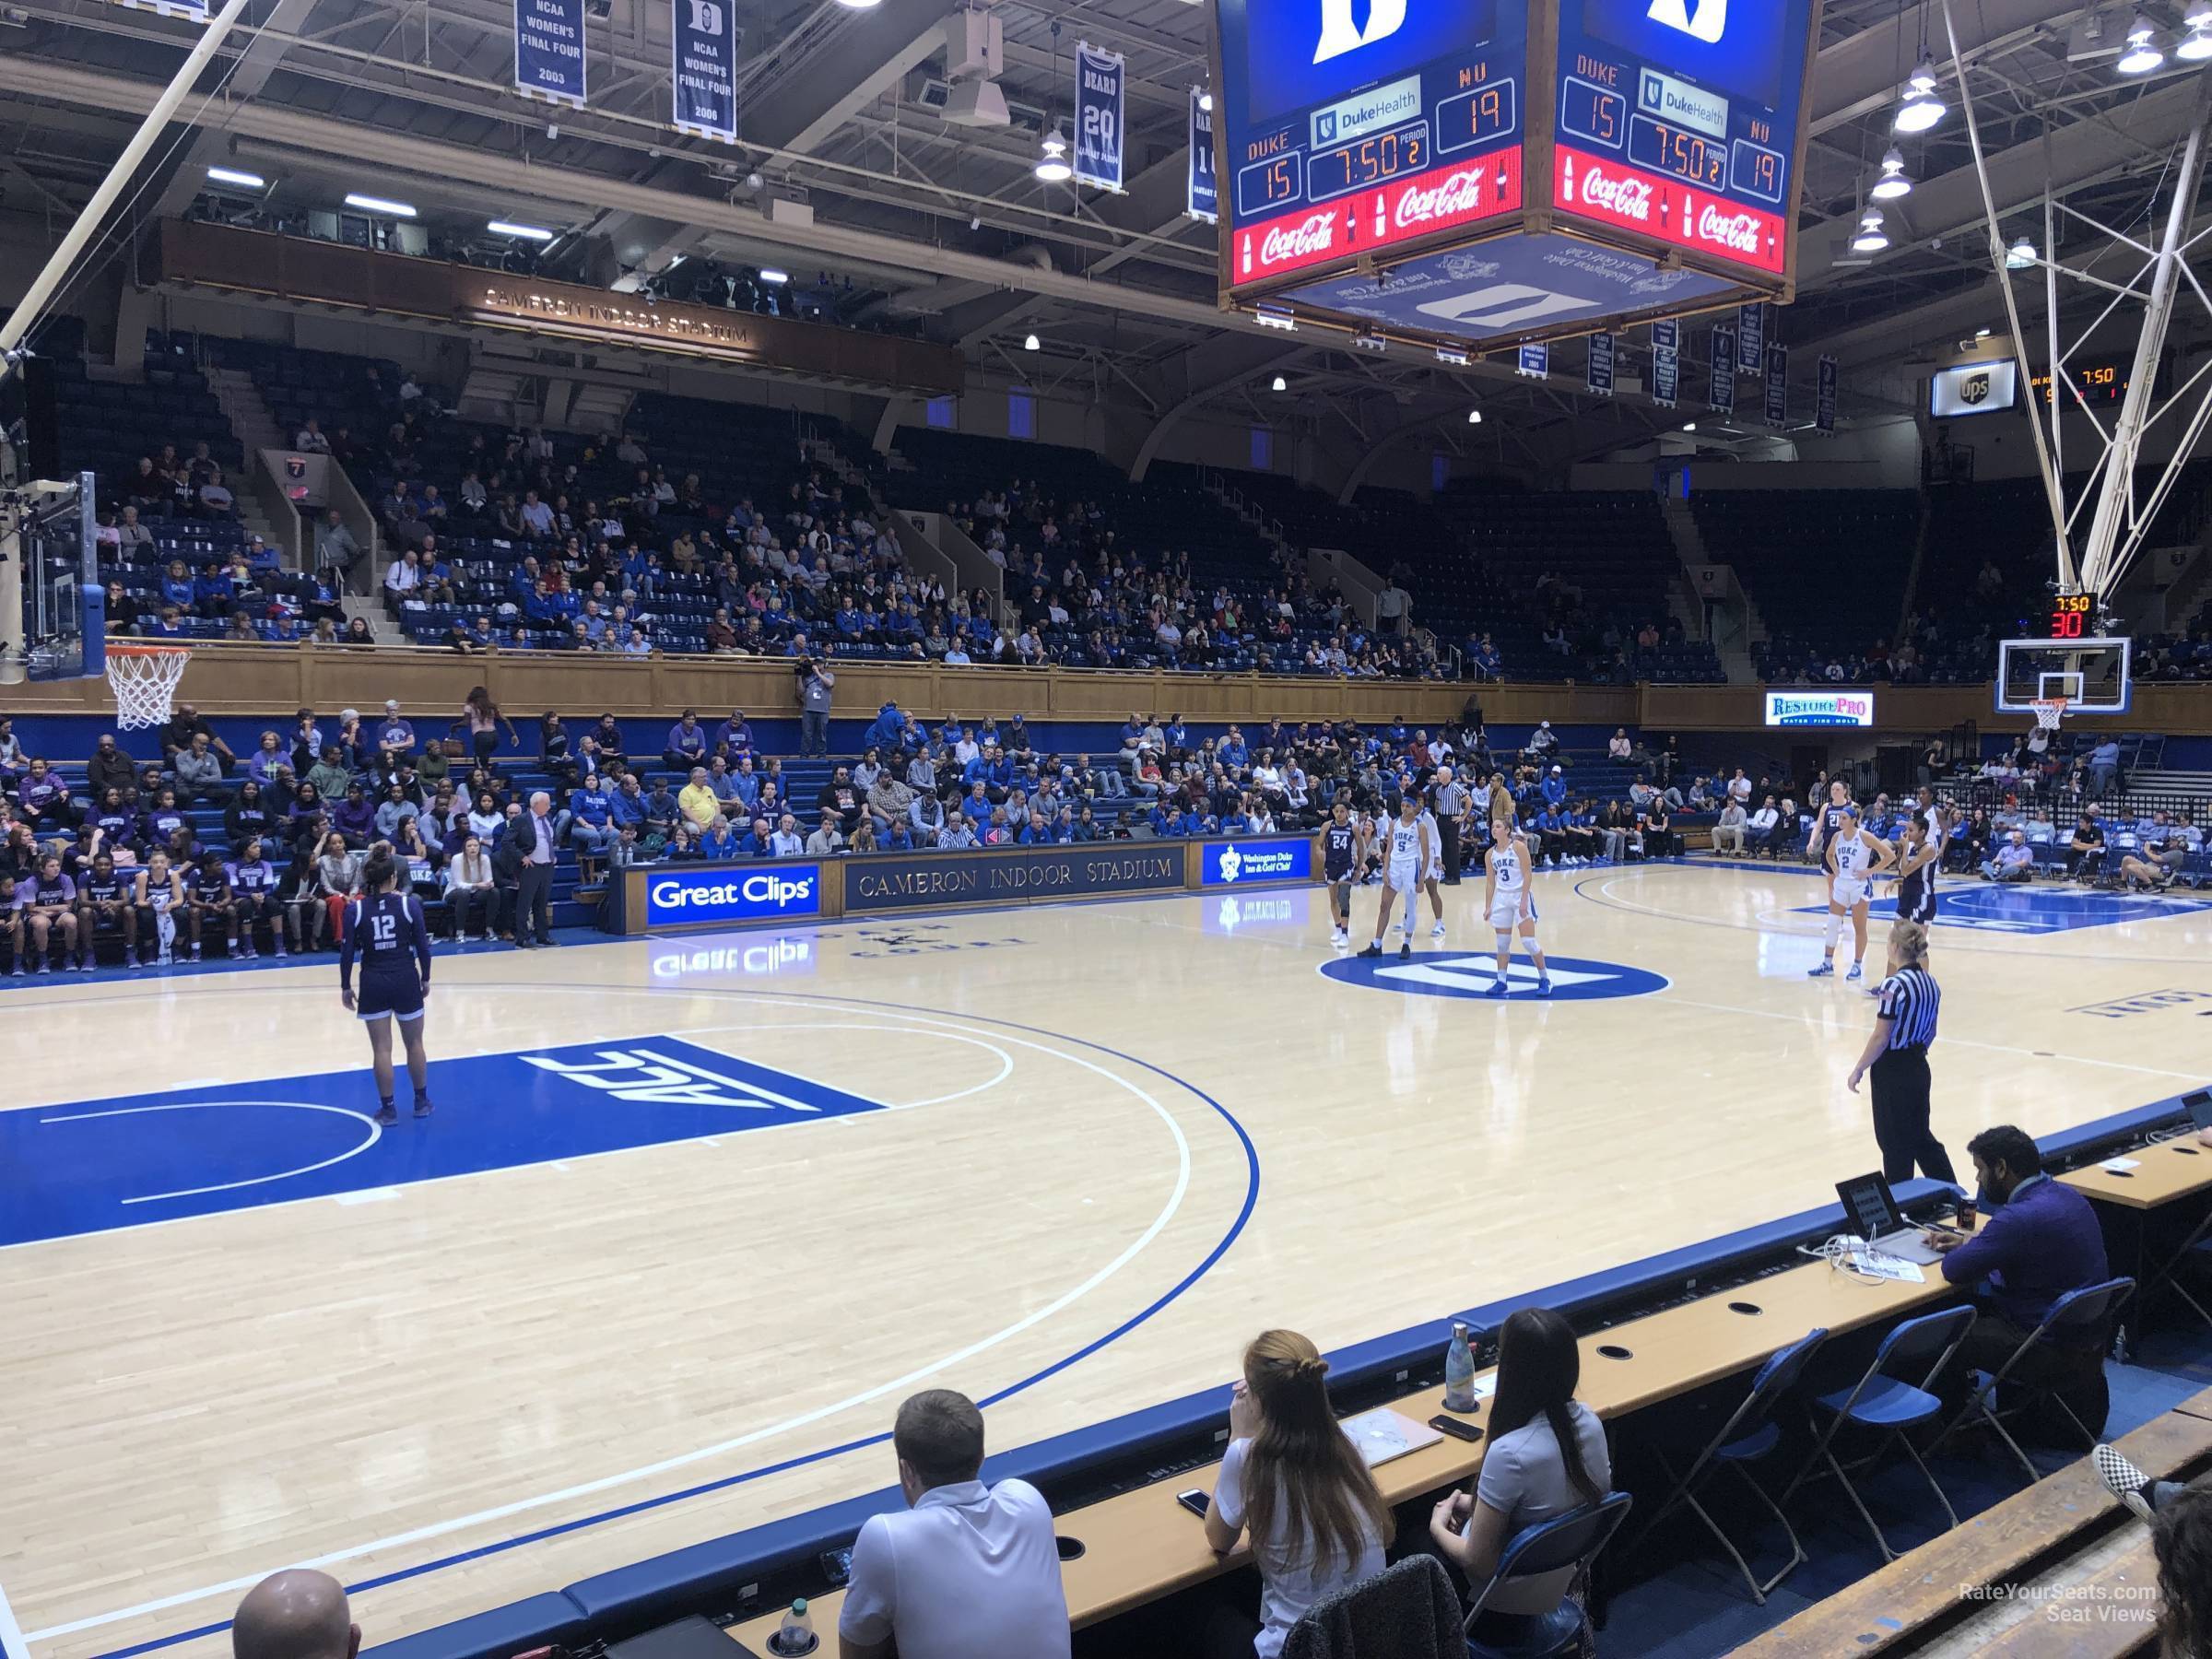
<instances>
[{"instance_id":1,"label":"woman with long black hair in grey shirt on folding chair","mask_svg":"<svg viewBox=\"0 0 2212 1659\"><path fill-rule=\"evenodd\" d=\"M1597 1413L1575 1398L1582 1349L1575 1327L1548 1307L1509 1316L1498 1343L1498 1394L1491 1442L1473 1495L1451 1493L1429 1515L1429 1537L1473 1586L1489 1584L1506 1540L1524 1526L1595 1504L1613 1480L1613 1455ZM1506 1579L1467 1632L1491 1648L1535 1635L1573 1584L1573 1568Z\"/></svg>"}]
</instances>

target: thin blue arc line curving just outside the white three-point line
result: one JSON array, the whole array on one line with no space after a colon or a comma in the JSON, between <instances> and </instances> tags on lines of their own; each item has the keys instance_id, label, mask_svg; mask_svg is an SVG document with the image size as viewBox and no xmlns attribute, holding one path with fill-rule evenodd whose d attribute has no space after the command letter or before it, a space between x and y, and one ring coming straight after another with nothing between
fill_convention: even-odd
<instances>
[{"instance_id":1,"label":"thin blue arc line curving just outside the white three-point line","mask_svg":"<svg viewBox=\"0 0 2212 1659\"><path fill-rule=\"evenodd\" d=\"M630 987L608 987L608 989L630 989ZM699 991L695 995L743 998L745 993L743 991ZM1026 1026L1026 1024L1020 1024L1015 1020L993 1020L993 1018L980 1015L980 1013L956 1013L951 1009L925 1009L925 1006L916 1006L911 1002L878 1002L874 998L812 998L812 995L794 995L794 998L787 998L787 1000L790 1002L818 1002L825 1009L856 1006L856 1009L889 1009L889 1011L896 1011L896 1013L927 1013L927 1015L938 1015L938 1018L945 1018L945 1020L962 1020L967 1024L978 1024L978 1026L1000 1026L1002 1031L1022 1031L1022 1033L1026 1033L1031 1037L1051 1037L1055 1042L1068 1044L1071 1048L1088 1048L1091 1053L1108 1055L1110 1060L1121 1060L1121 1062L1126 1062L1130 1066L1139 1066L1141 1071L1148 1071L1155 1077L1164 1077L1166 1082L1175 1084L1177 1088L1181 1088L1181 1091L1186 1091L1190 1095L1197 1095L1237 1135L1237 1146L1243 1150L1243 1161L1245 1161L1245 1192L1243 1192L1243 1201L1237 1208L1237 1217L1228 1223L1228 1228L1223 1228L1221 1237L1206 1252L1206 1256L1197 1265L1192 1265L1190 1272L1186 1272L1181 1279L1177 1279L1168 1290L1164 1290L1152 1303L1148 1303L1146 1307L1139 1307L1135 1314L1130 1314L1128 1318L1124 1318L1119 1325L1115 1325L1104 1336L1097 1336L1091 1343L1084 1343L1073 1354L1066 1354L1066 1356L1053 1360L1044 1369L1031 1371L1029 1376L1024 1376L1024 1378L1020 1378L1015 1383L1009 1383L1006 1387L998 1389L995 1394L989 1394L989 1396L980 1398L975 1405L980 1405L984 1409L998 1405L1000 1400L1011 1400L1015 1394L1024 1394L1024 1391L1037 1387L1037 1383L1044 1383L1044 1380L1057 1376L1060 1371L1068 1369L1071 1365L1079 1365L1082 1360L1091 1358L1093 1354L1097 1354L1099 1349L1108 1347L1110 1343L1117 1343L1119 1338L1128 1336L1133 1329L1137 1329L1139 1325L1144 1325L1146 1321L1150 1321L1155 1314L1159 1314L1170 1303L1179 1301L1192 1285L1197 1285L1206 1274L1212 1272L1214 1263L1221 1261L1221 1256L1225 1256L1230 1252L1230 1245L1237 1243L1237 1239L1243 1234L1245 1225L1252 1221L1252 1210L1259 1208L1259 1148L1252 1144L1252 1135L1245 1133L1245 1126L1241 1121L1237 1121L1237 1115L1230 1113L1230 1108L1223 1106L1219 1099L1214 1099L1212 1095L1208 1095L1197 1084L1192 1084L1192 1082L1188 1082L1183 1077L1177 1077L1172 1071L1168 1071L1164 1066L1155 1066L1150 1060L1139 1060L1137 1055L1124 1053L1121 1048L1108 1048L1102 1042L1084 1042L1082 1037L1068 1037L1068 1035L1062 1035L1057 1031L1046 1031L1044 1026ZM4 1113L0 1113L0 1121L4 1121ZM431 1121L436 1121L436 1119L431 1119ZM403 1124L403 1128L407 1128L407 1126ZM480 1544L476 1548L456 1551L453 1555L440 1555L440 1557L429 1559L429 1562L416 1562L414 1566L403 1566L403 1568L396 1568L392 1573L380 1573L376 1577L352 1582L352 1584L345 1586L345 1593L347 1595L363 1595L365 1590L376 1590L376 1588L383 1588L385 1584L400 1584L405 1579L427 1577L431 1573L445 1573L449 1568L465 1566L469 1562L478 1562L478 1559L482 1559L487 1555L504 1555L509 1551L529 1548L531 1544L542 1544L544 1540L551 1540L551 1537L562 1537L566 1533L577 1533L577 1531L586 1531L586 1528L593 1528L593 1526L604 1526L606 1522L624 1520L626 1515L639 1515L639 1513L646 1513L646 1511L666 1509L670 1504L681 1504L681 1502L688 1502L692 1498L706 1498L710 1493L728 1491L732 1486L745 1486L745 1484L750 1484L754 1480L765 1480L768 1475L779 1475L779 1473L783 1473L787 1469L805 1469L807 1464L827 1462L830 1458L843 1458L849 1451L865 1451L867 1447L889 1444L889 1440L891 1440L889 1431L867 1433L867 1436L860 1436L856 1440L845 1440L843 1444L821 1447L816 1451L805 1451L805 1453L801 1453L796 1458L785 1458L781 1462L763 1464L763 1467L757 1467L757 1469L741 1469L739 1473L721 1475L717 1480L703 1480L703 1482L697 1482L692 1486L684 1486L679 1491L655 1493L650 1498L639 1498L637 1502L622 1504L617 1509L604 1509L604 1511L597 1511L593 1515L577 1515L575 1520L555 1522L551 1526L540 1526L540 1528L533 1528L529 1533L515 1533L511 1537L502 1537L502 1540L495 1540L491 1544ZM113 1648L113 1650L108 1650L104 1655L97 1655L97 1659L137 1659L137 1655L159 1652L164 1648L175 1648L175 1646L179 1646L184 1641L199 1641L204 1637L221 1635L228 1628L230 1628L230 1619L219 1619L219 1621L212 1621L212 1624L192 1626L188 1630L173 1630L168 1635L153 1637L150 1641L139 1641L139 1644L135 1644L131 1648Z\"/></svg>"}]
</instances>

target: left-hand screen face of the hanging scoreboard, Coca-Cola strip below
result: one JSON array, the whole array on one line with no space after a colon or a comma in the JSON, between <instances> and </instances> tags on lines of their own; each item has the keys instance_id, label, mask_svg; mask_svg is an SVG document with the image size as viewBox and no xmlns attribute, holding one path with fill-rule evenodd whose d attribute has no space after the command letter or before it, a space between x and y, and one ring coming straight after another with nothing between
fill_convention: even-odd
<instances>
[{"instance_id":1,"label":"left-hand screen face of the hanging scoreboard, Coca-Cola strip below","mask_svg":"<svg viewBox=\"0 0 2212 1659\"><path fill-rule=\"evenodd\" d=\"M1217 0L1230 285L1522 206L1526 0Z\"/></svg>"}]
</instances>

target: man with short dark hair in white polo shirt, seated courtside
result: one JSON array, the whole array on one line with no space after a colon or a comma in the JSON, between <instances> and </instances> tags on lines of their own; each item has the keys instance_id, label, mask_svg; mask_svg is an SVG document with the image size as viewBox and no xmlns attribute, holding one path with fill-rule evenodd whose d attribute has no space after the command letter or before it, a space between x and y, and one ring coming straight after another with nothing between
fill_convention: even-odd
<instances>
[{"instance_id":1,"label":"man with short dark hair in white polo shirt, seated courtside","mask_svg":"<svg viewBox=\"0 0 2212 1659\"><path fill-rule=\"evenodd\" d=\"M838 1613L843 1659L1066 1659L1053 1511L1026 1480L984 1486L982 1411L929 1389L891 1429L905 1513L872 1515Z\"/></svg>"}]
</instances>

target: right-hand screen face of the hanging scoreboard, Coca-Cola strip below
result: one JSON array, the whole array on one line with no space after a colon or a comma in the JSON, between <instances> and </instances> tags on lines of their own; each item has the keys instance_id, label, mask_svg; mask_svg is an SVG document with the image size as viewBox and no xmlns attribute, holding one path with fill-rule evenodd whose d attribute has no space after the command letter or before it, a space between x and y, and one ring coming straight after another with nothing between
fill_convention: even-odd
<instances>
[{"instance_id":1,"label":"right-hand screen face of the hanging scoreboard, Coca-Cola strip below","mask_svg":"<svg viewBox=\"0 0 2212 1659\"><path fill-rule=\"evenodd\" d=\"M1818 0L1559 0L1553 206L1787 274Z\"/></svg>"}]
</instances>

